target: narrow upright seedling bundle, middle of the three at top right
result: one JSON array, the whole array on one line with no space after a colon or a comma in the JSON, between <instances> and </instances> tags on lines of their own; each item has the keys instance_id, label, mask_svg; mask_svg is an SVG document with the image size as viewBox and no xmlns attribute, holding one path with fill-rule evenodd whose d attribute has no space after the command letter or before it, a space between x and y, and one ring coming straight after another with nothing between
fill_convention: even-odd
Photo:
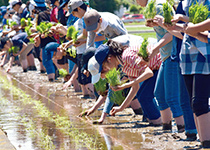
<instances>
[{"instance_id":1,"label":"narrow upright seedling bundle, middle of the three at top right","mask_svg":"<svg viewBox=\"0 0 210 150\"><path fill-rule=\"evenodd\" d=\"M163 3L163 17L166 25L172 25L172 7L168 2Z\"/></svg>"}]
</instances>

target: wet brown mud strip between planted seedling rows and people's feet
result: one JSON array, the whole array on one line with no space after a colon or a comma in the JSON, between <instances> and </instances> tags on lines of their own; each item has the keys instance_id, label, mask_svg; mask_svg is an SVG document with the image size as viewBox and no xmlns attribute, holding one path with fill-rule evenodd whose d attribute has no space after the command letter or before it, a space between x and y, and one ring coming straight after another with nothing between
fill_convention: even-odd
<instances>
[{"instance_id":1,"label":"wet brown mud strip between planted seedling rows and people's feet","mask_svg":"<svg viewBox=\"0 0 210 150\"><path fill-rule=\"evenodd\" d=\"M16 80L23 90L33 95L33 98L50 98L53 103L46 106L51 111L59 112L61 108L67 110L70 119L75 122L78 128L94 128L94 130L97 130L103 139L102 141L105 142L106 148L104 149L199 149L200 143L198 141L188 142L183 140L186 138L185 134L177 133L174 122L172 132L163 132L160 126L152 127L148 123L142 122L142 116L134 116L131 108L126 108L124 111L117 113L115 117L108 116L102 125L92 125L92 120L100 118L103 106L89 117L77 117L82 110L93 106L95 99L81 100L81 93L74 92L72 87L62 90L62 78L50 83L46 74L40 74L39 71L23 73L22 68L18 66L13 66L9 75ZM90 131L90 134L94 134L93 130ZM12 135L8 136L12 143L17 142L12 138Z\"/></svg>"}]
</instances>

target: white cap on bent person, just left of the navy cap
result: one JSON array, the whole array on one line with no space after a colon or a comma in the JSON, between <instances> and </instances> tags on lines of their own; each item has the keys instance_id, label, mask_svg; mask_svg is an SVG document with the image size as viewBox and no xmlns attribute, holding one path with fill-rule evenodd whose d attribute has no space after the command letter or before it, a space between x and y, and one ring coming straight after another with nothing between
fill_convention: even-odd
<instances>
[{"instance_id":1,"label":"white cap on bent person, just left of the navy cap","mask_svg":"<svg viewBox=\"0 0 210 150\"><path fill-rule=\"evenodd\" d=\"M88 71L92 75L91 79L92 84L97 83L101 77L101 73L99 73L99 68L100 65L96 61L95 56L91 57L90 60L88 61Z\"/></svg>"}]
</instances>

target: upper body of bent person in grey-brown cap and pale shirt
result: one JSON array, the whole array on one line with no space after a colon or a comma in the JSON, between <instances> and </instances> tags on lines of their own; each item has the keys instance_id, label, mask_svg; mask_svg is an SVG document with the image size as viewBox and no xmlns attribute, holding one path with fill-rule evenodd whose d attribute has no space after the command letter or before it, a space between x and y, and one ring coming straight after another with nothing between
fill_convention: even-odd
<instances>
[{"instance_id":1,"label":"upper body of bent person in grey-brown cap and pale shirt","mask_svg":"<svg viewBox=\"0 0 210 150\"><path fill-rule=\"evenodd\" d=\"M89 32L87 37L87 47L93 47L96 34L105 35L112 39L119 35L127 34L122 21L116 15L108 12L99 13L94 9L87 11L84 15L86 30Z\"/></svg>"}]
</instances>

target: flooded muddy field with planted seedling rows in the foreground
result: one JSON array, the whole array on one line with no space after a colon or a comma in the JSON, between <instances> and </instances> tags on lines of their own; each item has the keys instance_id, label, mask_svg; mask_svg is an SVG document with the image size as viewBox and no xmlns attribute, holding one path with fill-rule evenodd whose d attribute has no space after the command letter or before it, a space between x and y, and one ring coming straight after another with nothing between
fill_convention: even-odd
<instances>
[{"instance_id":1,"label":"flooded muddy field with planted seedling rows in the foreground","mask_svg":"<svg viewBox=\"0 0 210 150\"><path fill-rule=\"evenodd\" d=\"M62 90L62 79L49 83L37 72L0 73L0 126L17 150L138 150L196 149L184 133L164 133L133 116L132 109L92 125L102 107L90 117L77 117L95 99L81 100L73 88Z\"/></svg>"}]
</instances>

